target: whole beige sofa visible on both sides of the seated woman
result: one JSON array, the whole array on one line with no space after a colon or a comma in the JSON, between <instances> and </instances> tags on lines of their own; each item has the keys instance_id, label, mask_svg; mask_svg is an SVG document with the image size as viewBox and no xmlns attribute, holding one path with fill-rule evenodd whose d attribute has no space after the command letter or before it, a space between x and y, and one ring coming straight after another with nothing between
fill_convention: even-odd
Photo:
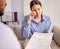
<instances>
[{"instance_id":1,"label":"whole beige sofa visible on both sides of the seated woman","mask_svg":"<svg viewBox=\"0 0 60 49\"><path fill-rule=\"evenodd\" d=\"M24 41L24 39L21 35L20 25L12 25L10 27L14 30L18 40L21 42L22 49L24 49L23 44L24 44L25 41ZM51 49L60 49L60 27L53 26L52 31L54 33L54 36L53 36L52 43L51 43Z\"/></svg>"}]
</instances>

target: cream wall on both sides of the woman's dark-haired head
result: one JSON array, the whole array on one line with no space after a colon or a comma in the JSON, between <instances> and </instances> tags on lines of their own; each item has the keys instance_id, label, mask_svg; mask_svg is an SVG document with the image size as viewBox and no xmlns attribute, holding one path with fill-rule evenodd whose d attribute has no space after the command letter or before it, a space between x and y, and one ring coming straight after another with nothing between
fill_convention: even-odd
<instances>
[{"instance_id":1,"label":"cream wall on both sides of the woman's dark-haired head","mask_svg":"<svg viewBox=\"0 0 60 49\"><path fill-rule=\"evenodd\" d=\"M24 0L24 15L30 12L30 1ZM40 0L43 5L43 13L50 16L53 24L60 25L60 0Z\"/></svg>"}]
</instances>

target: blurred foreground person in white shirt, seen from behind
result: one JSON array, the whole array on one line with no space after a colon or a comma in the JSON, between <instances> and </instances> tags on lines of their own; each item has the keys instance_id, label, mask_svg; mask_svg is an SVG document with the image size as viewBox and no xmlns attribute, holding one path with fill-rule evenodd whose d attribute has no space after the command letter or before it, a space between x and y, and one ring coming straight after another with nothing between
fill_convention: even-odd
<instances>
[{"instance_id":1,"label":"blurred foreground person in white shirt, seen from behind","mask_svg":"<svg viewBox=\"0 0 60 49\"><path fill-rule=\"evenodd\" d=\"M6 5L6 0L0 0L0 16L4 14ZM0 49L21 49L21 45L12 29L2 22L0 22Z\"/></svg>"}]
</instances>

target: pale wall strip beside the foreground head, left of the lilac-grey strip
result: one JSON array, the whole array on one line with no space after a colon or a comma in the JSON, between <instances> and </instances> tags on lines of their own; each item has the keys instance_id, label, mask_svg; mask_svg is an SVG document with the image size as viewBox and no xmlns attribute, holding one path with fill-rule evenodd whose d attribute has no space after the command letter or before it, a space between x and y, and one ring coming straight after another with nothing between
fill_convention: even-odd
<instances>
[{"instance_id":1,"label":"pale wall strip beside the foreground head, left of the lilac-grey strip","mask_svg":"<svg viewBox=\"0 0 60 49\"><path fill-rule=\"evenodd\" d=\"M2 21L11 21L11 14L9 12L12 11L12 7L11 7L11 4L12 4L12 0L6 0L6 3L7 3L7 6L5 8L5 13L4 15L2 16Z\"/></svg>"}]
</instances>

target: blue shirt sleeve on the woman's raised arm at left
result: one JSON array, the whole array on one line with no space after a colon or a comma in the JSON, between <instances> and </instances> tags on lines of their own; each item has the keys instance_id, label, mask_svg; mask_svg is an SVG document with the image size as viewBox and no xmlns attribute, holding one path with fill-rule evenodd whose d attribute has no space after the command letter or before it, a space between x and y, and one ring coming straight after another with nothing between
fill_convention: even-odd
<instances>
[{"instance_id":1,"label":"blue shirt sleeve on the woman's raised arm at left","mask_svg":"<svg viewBox=\"0 0 60 49\"><path fill-rule=\"evenodd\" d=\"M30 24L27 23L27 17L24 18L24 20L22 21L22 36L24 38L29 38L30 37Z\"/></svg>"}]
</instances>

